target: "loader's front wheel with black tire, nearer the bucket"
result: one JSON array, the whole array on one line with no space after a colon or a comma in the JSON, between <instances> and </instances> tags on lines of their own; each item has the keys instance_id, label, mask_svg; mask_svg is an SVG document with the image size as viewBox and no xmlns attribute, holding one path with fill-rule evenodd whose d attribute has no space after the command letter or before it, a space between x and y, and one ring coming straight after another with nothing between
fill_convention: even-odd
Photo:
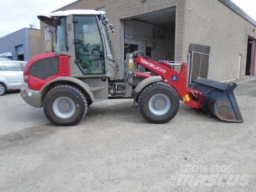
<instances>
[{"instance_id":1,"label":"loader's front wheel with black tire, nearer the bucket","mask_svg":"<svg viewBox=\"0 0 256 192\"><path fill-rule=\"evenodd\" d=\"M151 123L164 124L178 113L180 99L168 84L158 82L142 90L138 99L139 111Z\"/></svg>"}]
</instances>

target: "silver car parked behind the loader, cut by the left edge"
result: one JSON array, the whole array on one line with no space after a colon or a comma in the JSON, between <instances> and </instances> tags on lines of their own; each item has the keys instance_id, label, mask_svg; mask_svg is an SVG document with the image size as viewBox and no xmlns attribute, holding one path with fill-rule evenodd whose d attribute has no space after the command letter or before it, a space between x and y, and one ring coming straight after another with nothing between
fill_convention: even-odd
<instances>
[{"instance_id":1,"label":"silver car parked behind the loader, cut by the left edge","mask_svg":"<svg viewBox=\"0 0 256 192\"><path fill-rule=\"evenodd\" d=\"M0 61L0 96L6 91L20 89L25 64L24 61Z\"/></svg>"}]
</instances>

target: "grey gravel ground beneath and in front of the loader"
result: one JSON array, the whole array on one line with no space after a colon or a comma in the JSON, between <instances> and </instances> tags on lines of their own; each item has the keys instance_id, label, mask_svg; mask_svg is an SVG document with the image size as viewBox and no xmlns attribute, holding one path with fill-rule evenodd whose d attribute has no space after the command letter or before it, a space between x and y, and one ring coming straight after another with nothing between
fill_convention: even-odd
<instances>
[{"instance_id":1,"label":"grey gravel ground beneath and in front of the loader","mask_svg":"<svg viewBox=\"0 0 256 192\"><path fill-rule=\"evenodd\" d=\"M148 124L133 100L90 106L73 127L50 124L17 92L0 97L1 192L256 191L256 80L235 90L244 123L181 103Z\"/></svg>"}]
</instances>

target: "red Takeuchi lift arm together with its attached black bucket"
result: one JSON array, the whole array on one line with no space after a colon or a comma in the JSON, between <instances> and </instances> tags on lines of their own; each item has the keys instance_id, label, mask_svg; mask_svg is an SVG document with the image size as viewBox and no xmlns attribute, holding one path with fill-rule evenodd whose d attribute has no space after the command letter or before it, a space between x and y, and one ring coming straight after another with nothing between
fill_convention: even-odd
<instances>
[{"instance_id":1,"label":"red Takeuchi lift arm together with its attached black bucket","mask_svg":"<svg viewBox=\"0 0 256 192\"><path fill-rule=\"evenodd\" d=\"M170 68L168 61L159 63L151 58L139 56L134 53L134 62L140 64L162 77L162 82L168 84L176 92L180 100L192 108L202 109L206 116L216 116L217 118L229 122L244 122L239 110L233 90L237 87L235 83L225 84L204 78L196 78L187 87L187 64L181 66L180 73ZM148 78L152 74L134 72L134 74Z\"/></svg>"}]
</instances>

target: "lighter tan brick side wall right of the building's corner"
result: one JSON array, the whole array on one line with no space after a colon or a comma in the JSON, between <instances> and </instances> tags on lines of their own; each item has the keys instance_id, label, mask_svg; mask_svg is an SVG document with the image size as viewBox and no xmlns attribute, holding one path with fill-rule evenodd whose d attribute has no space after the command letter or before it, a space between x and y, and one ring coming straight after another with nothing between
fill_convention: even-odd
<instances>
[{"instance_id":1,"label":"lighter tan brick side wall right of the building's corner","mask_svg":"<svg viewBox=\"0 0 256 192\"><path fill-rule=\"evenodd\" d=\"M192 11L189 11L192 8ZM256 28L219 0L186 0L183 60L190 43L211 46L208 78L237 78L238 58L242 54L240 76L245 76L248 36L256 38Z\"/></svg>"}]
</instances>

